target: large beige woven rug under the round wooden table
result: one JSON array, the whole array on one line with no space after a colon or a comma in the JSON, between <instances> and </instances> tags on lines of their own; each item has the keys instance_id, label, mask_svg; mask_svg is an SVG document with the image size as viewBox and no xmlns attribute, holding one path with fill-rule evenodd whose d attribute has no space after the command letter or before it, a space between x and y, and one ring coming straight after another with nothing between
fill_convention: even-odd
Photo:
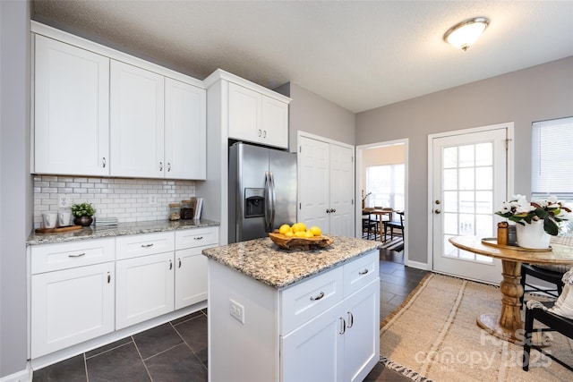
<instances>
[{"instance_id":1,"label":"large beige woven rug under the round wooden table","mask_svg":"<svg viewBox=\"0 0 573 382\"><path fill-rule=\"evenodd\" d=\"M542 299L527 295L526 299ZM570 381L573 373L539 352L522 368L523 346L488 335L475 320L501 310L499 287L429 274L381 323L381 361L415 381ZM573 364L573 342L549 333L546 351Z\"/></svg>"}]
</instances>

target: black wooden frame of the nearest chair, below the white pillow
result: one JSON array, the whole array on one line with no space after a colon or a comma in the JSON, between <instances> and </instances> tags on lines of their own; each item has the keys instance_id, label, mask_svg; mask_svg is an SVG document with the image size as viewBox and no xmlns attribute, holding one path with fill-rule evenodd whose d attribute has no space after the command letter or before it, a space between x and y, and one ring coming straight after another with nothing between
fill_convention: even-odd
<instances>
[{"instance_id":1,"label":"black wooden frame of the nearest chair, below the white pillow","mask_svg":"<svg viewBox=\"0 0 573 382\"><path fill-rule=\"evenodd\" d=\"M553 301L542 302L542 304L551 308L553 306ZM532 344L532 337L534 333L534 321L537 320L547 327L536 328L536 332L559 332L561 335L566 335L569 338L573 338L573 320L569 318L564 318L558 314L552 313L549 310L543 310L543 308L526 308L526 338L525 344L523 345L523 369L527 371L529 369L530 351L534 348L536 351L541 352L547 357L556 361L564 368L573 371L573 368L563 361L557 359L553 354L545 352L540 346Z\"/></svg>"}]
</instances>

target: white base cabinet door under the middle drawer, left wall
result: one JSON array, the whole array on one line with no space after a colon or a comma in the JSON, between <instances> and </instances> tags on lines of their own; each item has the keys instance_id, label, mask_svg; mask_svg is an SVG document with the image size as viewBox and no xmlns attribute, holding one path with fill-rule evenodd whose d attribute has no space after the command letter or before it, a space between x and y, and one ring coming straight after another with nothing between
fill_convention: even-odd
<instances>
[{"instance_id":1,"label":"white base cabinet door under the middle drawer, left wall","mask_svg":"<svg viewBox=\"0 0 573 382\"><path fill-rule=\"evenodd\" d=\"M173 252L115 263L116 329L173 311L174 267Z\"/></svg>"}]
</instances>

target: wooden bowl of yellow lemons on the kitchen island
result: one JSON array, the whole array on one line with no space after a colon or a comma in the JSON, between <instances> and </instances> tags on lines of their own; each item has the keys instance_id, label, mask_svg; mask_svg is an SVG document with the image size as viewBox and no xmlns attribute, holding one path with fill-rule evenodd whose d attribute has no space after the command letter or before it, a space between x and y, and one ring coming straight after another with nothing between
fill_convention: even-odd
<instances>
[{"instance_id":1,"label":"wooden bowl of yellow lemons on the kitchen island","mask_svg":"<svg viewBox=\"0 0 573 382\"><path fill-rule=\"evenodd\" d=\"M334 239L323 235L318 226L307 228L304 223L281 225L278 230L269 233L269 237L278 247L285 250L325 248L334 242Z\"/></svg>"}]
</instances>

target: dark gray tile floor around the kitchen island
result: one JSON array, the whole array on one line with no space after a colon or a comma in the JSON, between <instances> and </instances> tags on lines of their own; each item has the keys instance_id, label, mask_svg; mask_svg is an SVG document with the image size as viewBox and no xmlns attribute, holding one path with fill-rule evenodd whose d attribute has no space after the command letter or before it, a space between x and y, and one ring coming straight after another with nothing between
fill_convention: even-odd
<instances>
[{"instance_id":1,"label":"dark gray tile floor around the kitchen island","mask_svg":"<svg viewBox=\"0 0 573 382\"><path fill-rule=\"evenodd\" d=\"M405 267L402 252L381 250L381 319L404 301L427 273ZM44 381L206 381L207 311L129 336L34 371ZM408 381L378 364L366 381Z\"/></svg>"}]
</instances>

